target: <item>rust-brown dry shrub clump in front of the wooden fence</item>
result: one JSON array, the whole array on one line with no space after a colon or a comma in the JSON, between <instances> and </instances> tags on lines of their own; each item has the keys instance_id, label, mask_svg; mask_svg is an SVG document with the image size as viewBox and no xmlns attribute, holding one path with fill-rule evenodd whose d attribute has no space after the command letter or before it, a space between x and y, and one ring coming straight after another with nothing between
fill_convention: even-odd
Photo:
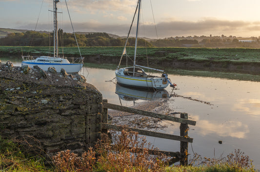
<instances>
[{"instance_id":1,"label":"rust-brown dry shrub clump in front of the wooden fence","mask_svg":"<svg viewBox=\"0 0 260 172\"><path fill-rule=\"evenodd\" d=\"M167 156L157 153L150 155L149 149L157 149L147 143L145 137L137 132L123 130L114 132L114 144L108 135L102 135L95 146L82 156L70 153L69 150L53 156L59 172L163 172L167 165Z\"/></svg>"}]
</instances>

